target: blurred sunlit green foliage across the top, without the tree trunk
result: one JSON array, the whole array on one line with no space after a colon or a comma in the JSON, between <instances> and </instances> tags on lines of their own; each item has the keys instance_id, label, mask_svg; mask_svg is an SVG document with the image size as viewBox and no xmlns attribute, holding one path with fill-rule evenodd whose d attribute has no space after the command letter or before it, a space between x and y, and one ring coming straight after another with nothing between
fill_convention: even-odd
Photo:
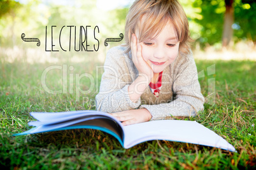
<instances>
[{"instance_id":1,"label":"blurred sunlit green foliage across the top, without the tree trunk","mask_svg":"<svg viewBox=\"0 0 256 170\"><path fill-rule=\"evenodd\" d=\"M45 39L45 26L98 25L101 43L106 37L124 33L125 16L133 1L113 10L99 8L97 1L0 1L0 45L27 46L20 41L22 32L27 36ZM221 48L225 13L224 0L181 1L190 22L191 36L201 48ZM256 3L253 0L234 0L233 44L239 41L256 41ZM29 33L29 34L28 34ZM10 41L11 40L11 41ZM43 42L43 41L41 41ZM43 46L44 44L42 44ZM103 48L103 44L101 44Z\"/></svg>"}]
</instances>

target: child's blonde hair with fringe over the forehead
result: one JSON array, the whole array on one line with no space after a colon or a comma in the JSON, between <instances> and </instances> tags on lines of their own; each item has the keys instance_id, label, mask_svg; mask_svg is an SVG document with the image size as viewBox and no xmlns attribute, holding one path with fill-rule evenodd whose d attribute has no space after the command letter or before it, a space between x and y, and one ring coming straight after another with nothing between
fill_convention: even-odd
<instances>
[{"instance_id":1,"label":"child's blonde hair with fringe over the forehead","mask_svg":"<svg viewBox=\"0 0 256 170\"><path fill-rule=\"evenodd\" d=\"M141 22L141 18L145 22ZM190 48L190 31L188 20L178 0L137 0L126 16L125 23L125 52L131 50L131 36L138 32L139 42L158 36L168 20L171 21L180 41L179 50L188 53Z\"/></svg>"}]
</instances>

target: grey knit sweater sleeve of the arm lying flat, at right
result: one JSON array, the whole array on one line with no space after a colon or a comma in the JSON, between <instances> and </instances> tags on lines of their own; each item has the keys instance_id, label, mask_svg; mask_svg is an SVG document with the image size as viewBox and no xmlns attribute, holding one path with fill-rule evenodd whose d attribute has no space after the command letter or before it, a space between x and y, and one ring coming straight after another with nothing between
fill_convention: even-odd
<instances>
[{"instance_id":1,"label":"grey knit sweater sleeve of the arm lying flat, at right","mask_svg":"<svg viewBox=\"0 0 256 170\"><path fill-rule=\"evenodd\" d=\"M174 100L159 105L141 105L152 114L152 120L166 119L170 116L194 116L204 109L204 96L197 76L197 68L192 52L189 55L179 55L174 65L174 80L172 84Z\"/></svg>"}]
</instances>

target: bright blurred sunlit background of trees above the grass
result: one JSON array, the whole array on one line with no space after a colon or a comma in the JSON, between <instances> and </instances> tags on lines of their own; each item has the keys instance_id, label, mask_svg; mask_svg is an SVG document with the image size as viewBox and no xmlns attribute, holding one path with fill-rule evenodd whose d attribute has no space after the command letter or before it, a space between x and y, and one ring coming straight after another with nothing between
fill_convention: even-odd
<instances>
[{"instance_id":1,"label":"bright blurred sunlit background of trees above the grass","mask_svg":"<svg viewBox=\"0 0 256 170\"><path fill-rule=\"evenodd\" d=\"M133 1L1 0L0 59L28 63L103 63L108 49L124 43L123 39L104 46L106 38L124 34L125 16ZM255 60L256 3L253 0L183 0L181 4L190 22L195 58ZM67 26L71 25L76 26L76 36L72 27L71 49L63 51L59 45L60 29L66 26L62 30L61 42L62 48L69 49L70 27ZM53 50L59 50L57 52L46 51L51 49L52 26L56 26L53 27ZM74 50L75 37L76 46L79 45L80 26L90 26L87 35L89 49L93 49L94 44L97 46L93 30L96 26L99 28L95 35L99 40L97 51ZM36 46L36 42L22 41L22 33L25 38L38 38L41 46Z\"/></svg>"}]
</instances>

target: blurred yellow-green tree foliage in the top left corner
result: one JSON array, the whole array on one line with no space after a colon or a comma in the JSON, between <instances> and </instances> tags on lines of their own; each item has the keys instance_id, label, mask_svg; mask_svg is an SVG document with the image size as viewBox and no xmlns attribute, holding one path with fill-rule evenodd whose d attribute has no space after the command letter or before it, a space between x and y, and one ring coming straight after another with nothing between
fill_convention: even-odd
<instances>
[{"instance_id":1,"label":"blurred yellow-green tree foliage in the top left corner","mask_svg":"<svg viewBox=\"0 0 256 170\"><path fill-rule=\"evenodd\" d=\"M1 0L0 0L1 1ZM42 13L38 8L39 0L1 1L0 44L1 46L15 46L21 43L20 35L25 32L33 35L37 32L38 23L43 22ZM29 45L29 44L27 44Z\"/></svg>"}]
</instances>

